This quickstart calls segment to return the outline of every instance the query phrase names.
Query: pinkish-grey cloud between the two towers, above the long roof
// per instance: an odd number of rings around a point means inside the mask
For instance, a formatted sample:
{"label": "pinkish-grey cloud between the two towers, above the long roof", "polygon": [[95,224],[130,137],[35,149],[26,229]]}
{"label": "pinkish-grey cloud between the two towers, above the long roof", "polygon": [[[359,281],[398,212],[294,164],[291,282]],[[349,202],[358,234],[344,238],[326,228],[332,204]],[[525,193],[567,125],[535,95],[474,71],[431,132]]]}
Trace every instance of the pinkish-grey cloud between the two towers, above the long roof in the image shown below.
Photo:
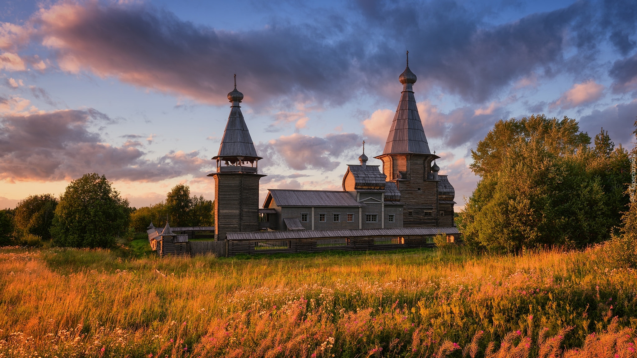
{"label": "pinkish-grey cloud between the two towers, above the long roof", "polygon": [[259,143],[257,153],[264,157],[259,167],[275,166],[281,161],[294,170],[332,171],[341,163],[334,161],[358,147],[361,137],[354,133],[327,134],[324,138],[294,133],[268,143]]}

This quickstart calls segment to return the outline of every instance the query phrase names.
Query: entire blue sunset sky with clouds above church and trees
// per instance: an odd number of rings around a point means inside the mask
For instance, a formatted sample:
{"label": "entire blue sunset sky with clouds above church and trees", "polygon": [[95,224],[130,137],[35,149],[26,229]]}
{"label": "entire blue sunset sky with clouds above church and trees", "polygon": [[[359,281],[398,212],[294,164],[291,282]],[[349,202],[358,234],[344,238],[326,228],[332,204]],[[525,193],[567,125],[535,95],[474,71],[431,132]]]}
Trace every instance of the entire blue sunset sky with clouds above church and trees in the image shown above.
{"label": "entire blue sunset sky with clouds above church and trees", "polygon": [[175,185],[214,197],[230,111],[267,189],[341,190],[382,154],[409,51],[420,118],[464,205],[471,148],[498,120],[575,118],[632,148],[634,1],[0,3],[0,207],[99,173],[131,206]]}

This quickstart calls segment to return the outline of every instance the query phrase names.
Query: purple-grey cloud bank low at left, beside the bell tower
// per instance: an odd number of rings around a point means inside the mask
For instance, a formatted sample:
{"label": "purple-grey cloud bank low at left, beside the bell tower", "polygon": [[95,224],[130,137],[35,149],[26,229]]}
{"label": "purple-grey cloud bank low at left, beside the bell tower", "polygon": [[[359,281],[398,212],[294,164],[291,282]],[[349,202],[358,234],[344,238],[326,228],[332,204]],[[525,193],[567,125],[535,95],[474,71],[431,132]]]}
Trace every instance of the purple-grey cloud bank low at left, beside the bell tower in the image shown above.
{"label": "purple-grey cloud bank low at left, beside the bell tower", "polygon": [[122,147],[102,143],[87,127],[103,121],[95,110],[62,110],[9,115],[0,120],[0,179],[69,180],[97,172],[110,180],[158,181],[187,174],[204,175],[198,152],[170,152],[150,161],[127,141]]}

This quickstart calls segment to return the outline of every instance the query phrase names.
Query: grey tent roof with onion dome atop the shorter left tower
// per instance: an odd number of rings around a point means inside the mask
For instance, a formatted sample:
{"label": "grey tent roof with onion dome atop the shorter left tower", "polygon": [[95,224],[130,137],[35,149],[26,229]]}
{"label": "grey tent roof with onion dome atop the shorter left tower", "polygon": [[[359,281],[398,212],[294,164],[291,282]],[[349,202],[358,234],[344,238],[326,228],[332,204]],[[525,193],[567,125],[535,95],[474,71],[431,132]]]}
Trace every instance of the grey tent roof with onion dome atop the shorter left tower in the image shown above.
{"label": "grey tent roof with onion dome atop the shorter left tower", "polygon": [[213,159],[218,157],[244,157],[246,160],[251,158],[261,159],[257,155],[257,150],[252,143],[252,137],[248,131],[248,126],[243,119],[243,113],[241,113],[241,107],[239,103],[243,99],[243,94],[236,88],[236,81],[234,83],[234,90],[228,94],[229,101],[233,104],[230,108],[230,115],[228,116],[228,122],[225,125],[224,136],[221,139],[221,145],[219,146],[219,153]]}

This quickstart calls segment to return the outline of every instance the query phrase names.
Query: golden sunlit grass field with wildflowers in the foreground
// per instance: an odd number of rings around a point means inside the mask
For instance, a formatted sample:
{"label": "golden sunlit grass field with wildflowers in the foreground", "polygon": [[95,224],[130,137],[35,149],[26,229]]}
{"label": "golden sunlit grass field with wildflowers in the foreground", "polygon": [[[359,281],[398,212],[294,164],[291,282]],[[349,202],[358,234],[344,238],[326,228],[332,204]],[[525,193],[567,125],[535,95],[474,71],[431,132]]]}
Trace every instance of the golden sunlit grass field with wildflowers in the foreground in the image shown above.
{"label": "golden sunlit grass field with wildflowers in the foreground", "polygon": [[637,357],[637,273],[599,249],[159,259],[141,240],[3,248],[0,277],[0,357]]}

